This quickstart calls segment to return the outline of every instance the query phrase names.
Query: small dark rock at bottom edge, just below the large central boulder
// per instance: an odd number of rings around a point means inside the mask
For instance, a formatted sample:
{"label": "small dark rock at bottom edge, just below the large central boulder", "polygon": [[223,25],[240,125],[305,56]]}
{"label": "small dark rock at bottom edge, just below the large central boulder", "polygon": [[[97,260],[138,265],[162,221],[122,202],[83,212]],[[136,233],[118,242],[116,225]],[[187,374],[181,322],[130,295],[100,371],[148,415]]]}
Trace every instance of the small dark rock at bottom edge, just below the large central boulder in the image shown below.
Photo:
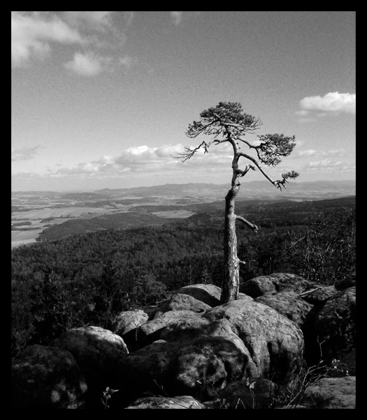
{"label": "small dark rock at bottom edge, just below the large central boulder", "polygon": [[269,379],[248,379],[232,382],[218,392],[220,404],[226,408],[270,408],[278,385]]}

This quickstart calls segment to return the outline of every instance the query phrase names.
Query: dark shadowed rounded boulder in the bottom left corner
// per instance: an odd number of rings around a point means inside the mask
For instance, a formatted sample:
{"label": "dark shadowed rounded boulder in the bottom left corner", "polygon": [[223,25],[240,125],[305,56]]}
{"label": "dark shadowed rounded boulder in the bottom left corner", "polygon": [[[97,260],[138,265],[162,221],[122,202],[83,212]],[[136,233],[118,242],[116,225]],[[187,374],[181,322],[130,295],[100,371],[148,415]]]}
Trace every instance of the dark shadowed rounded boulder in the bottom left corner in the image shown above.
{"label": "dark shadowed rounded boulder in the bottom left corner", "polygon": [[11,360],[13,409],[83,408],[87,384],[64,349],[29,346]]}

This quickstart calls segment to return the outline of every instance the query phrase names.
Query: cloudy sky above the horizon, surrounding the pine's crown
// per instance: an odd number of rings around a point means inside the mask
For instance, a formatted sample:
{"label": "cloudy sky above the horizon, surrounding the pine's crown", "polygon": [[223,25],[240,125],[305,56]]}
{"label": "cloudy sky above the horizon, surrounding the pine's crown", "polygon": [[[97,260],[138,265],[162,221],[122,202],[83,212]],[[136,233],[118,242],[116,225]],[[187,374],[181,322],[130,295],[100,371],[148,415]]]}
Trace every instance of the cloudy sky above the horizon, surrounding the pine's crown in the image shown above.
{"label": "cloudy sky above the horizon, surrounding the pine's crown", "polygon": [[[219,102],[296,137],[272,179],[355,179],[355,12],[11,13],[11,188],[229,183],[222,144],[187,127]],[[247,151],[245,151],[247,153]],[[252,152],[250,152],[251,154]],[[255,157],[255,156],[254,156]],[[245,160],[240,160],[245,165]],[[249,172],[246,181],[264,180]]]}

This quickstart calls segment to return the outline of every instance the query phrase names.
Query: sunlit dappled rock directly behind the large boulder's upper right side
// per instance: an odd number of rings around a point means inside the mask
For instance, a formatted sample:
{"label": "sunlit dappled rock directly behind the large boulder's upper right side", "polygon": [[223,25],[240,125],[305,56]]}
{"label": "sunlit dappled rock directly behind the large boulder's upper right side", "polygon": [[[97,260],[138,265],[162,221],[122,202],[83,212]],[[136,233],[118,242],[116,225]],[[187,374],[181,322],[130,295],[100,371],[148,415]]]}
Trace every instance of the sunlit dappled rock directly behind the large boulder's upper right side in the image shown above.
{"label": "sunlit dappled rock directly behind the large boulder's upper right side", "polygon": [[310,317],[312,318],[311,321],[313,321],[313,304],[297,299],[287,292],[280,292],[276,295],[262,295],[257,297],[255,302],[267,304],[275,311],[295,322],[301,329],[305,323],[306,326],[310,323]]}

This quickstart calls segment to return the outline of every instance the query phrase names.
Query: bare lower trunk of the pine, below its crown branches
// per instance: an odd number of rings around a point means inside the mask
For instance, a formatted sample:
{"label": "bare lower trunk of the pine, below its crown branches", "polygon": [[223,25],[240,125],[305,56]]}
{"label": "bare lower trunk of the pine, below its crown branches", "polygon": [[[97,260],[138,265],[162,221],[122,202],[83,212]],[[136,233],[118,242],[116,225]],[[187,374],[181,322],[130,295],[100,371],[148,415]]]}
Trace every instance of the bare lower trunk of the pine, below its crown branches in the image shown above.
{"label": "bare lower trunk of the pine, below its crown branches", "polygon": [[[234,180],[233,180],[234,181]],[[238,299],[240,285],[240,260],[237,256],[236,214],[234,203],[240,190],[239,183],[234,183],[226,195],[226,210],[224,216],[224,267],[222,295],[220,303]]]}

